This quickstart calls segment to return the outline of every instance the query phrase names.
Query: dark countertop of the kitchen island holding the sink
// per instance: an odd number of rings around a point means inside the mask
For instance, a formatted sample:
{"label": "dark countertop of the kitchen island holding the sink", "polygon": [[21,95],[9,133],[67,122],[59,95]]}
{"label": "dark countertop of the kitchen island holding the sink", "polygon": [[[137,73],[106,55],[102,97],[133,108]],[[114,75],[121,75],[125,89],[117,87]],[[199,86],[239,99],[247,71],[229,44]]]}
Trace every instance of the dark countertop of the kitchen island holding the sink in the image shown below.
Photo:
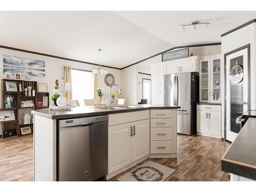
{"label": "dark countertop of the kitchen island holding the sink", "polygon": [[[136,106],[136,105],[133,105]],[[31,113],[39,115],[49,119],[66,119],[66,118],[77,118],[77,117],[90,117],[97,115],[108,115],[115,113],[126,113],[134,111],[142,111],[148,109],[180,109],[180,106],[170,106],[165,104],[142,104],[137,105],[140,108],[129,108],[129,109],[97,109],[92,108],[93,106],[77,106],[69,110],[50,110],[49,108],[33,110]]]}

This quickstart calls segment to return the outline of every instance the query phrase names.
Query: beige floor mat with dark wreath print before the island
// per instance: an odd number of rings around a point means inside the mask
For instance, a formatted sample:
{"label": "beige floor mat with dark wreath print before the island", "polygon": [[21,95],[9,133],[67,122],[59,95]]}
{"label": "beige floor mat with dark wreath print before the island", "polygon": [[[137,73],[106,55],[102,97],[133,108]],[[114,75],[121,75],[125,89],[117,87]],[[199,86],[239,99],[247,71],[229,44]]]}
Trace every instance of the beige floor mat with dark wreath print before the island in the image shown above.
{"label": "beige floor mat with dark wreath print before the island", "polygon": [[119,177],[117,181],[164,181],[174,172],[175,169],[173,168],[148,161],[133,169],[131,172]]}

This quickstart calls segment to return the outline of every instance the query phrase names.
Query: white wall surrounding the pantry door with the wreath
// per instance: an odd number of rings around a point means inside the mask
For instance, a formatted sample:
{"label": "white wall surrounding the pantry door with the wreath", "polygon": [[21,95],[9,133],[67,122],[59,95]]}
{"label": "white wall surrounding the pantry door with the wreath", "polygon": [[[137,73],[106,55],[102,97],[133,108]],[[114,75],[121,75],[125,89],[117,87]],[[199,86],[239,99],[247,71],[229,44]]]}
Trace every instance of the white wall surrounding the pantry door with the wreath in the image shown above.
{"label": "white wall surrounding the pantry door with the wreath", "polygon": [[[224,54],[250,44],[250,96],[251,109],[256,109],[255,83],[256,83],[256,67],[255,67],[255,39],[256,39],[256,24],[250,24],[242,29],[234,31],[221,38],[221,56],[222,56],[222,72],[224,71]],[[224,87],[224,73],[222,73],[222,87]],[[224,101],[224,90],[222,89],[222,101]],[[222,137],[224,137],[224,104],[222,104]]]}

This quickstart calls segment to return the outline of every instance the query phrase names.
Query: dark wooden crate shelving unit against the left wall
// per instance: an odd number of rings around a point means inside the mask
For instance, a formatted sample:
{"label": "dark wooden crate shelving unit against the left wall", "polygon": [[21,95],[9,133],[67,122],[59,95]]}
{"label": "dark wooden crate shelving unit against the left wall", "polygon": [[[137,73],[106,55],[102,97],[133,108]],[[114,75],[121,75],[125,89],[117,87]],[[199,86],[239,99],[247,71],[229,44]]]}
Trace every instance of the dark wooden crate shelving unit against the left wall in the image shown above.
{"label": "dark wooden crate shelving unit against the left wall", "polygon": [[[17,84],[17,92],[9,92],[6,90],[6,81],[12,81],[16,82]],[[19,92],[19,83],[22,84],[22,92]],[[32,90],[35,90],[35,96],[25,96],[25,88],[28,86],[32,87]],[[9,94],[9,95],[15,95],[16,97],[16,108],[6,108],[5,106],[5,99],[4,95]],[[31,91],[31,94],[33,92]],[[37,107],[37,101],[42,101],[42,97],[47,96],[48,97],[48,106],[39,106]],[[31,128],[31,133],[33,133],[33,122],[24,124],[24,123],[19,123],[19,117],[18,113],[19,110],[22,109],[42,109],[42,108],[49,108],[49,93],[48,92],[37,92],[37,81],[24,81],[24,80],[14,80],[14,79],[2,79],[2,109],[0,111],[5,111],[5,110],[13,110],[15,114],[15,120],[12,121],[3,121],[2,123],[2,138],[4,139],[4,132],[5,131],[10,131],[10,130],[15,130],[15,134],[17,136],[22,136],[20,134],[20,127],[26,127],[30,126]],[[21,100],[33,100],[34,101],[34,106],[29,106],[29,107],[21,107],[20,101]],[[20,118],[21,120],[23,119]]]}

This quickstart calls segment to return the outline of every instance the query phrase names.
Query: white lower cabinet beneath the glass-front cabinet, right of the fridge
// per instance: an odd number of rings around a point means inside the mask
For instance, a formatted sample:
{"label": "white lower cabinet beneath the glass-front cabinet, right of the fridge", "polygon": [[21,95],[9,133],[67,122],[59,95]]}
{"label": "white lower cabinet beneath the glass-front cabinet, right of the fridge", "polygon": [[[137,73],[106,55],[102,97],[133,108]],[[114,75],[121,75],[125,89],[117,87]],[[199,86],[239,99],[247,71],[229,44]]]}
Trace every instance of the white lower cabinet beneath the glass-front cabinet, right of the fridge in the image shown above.
{"label": "white lower cabinet beneath the glass-front cabinet, right of the fridge", "polygon": [[197,105],[197,133],[221,138],[221,105]]}

